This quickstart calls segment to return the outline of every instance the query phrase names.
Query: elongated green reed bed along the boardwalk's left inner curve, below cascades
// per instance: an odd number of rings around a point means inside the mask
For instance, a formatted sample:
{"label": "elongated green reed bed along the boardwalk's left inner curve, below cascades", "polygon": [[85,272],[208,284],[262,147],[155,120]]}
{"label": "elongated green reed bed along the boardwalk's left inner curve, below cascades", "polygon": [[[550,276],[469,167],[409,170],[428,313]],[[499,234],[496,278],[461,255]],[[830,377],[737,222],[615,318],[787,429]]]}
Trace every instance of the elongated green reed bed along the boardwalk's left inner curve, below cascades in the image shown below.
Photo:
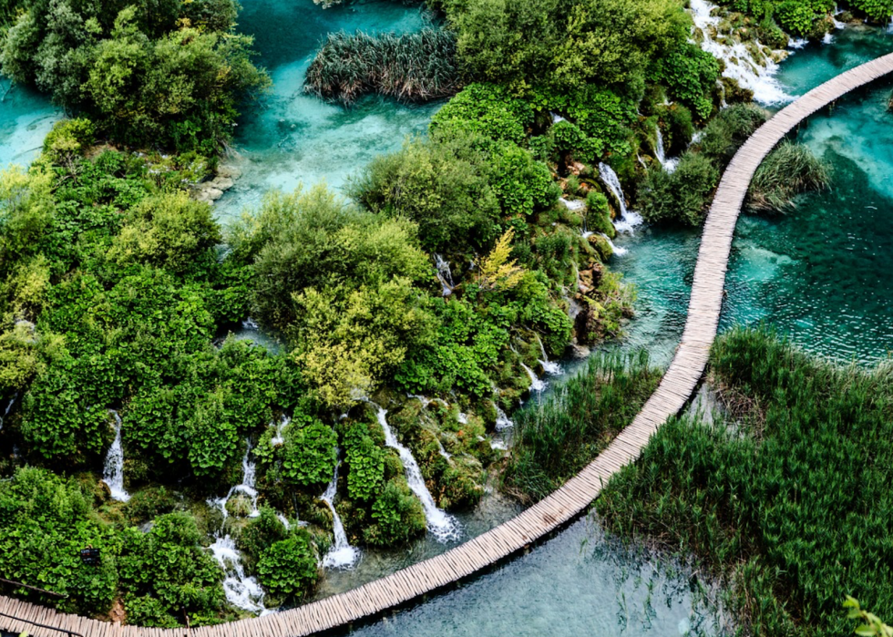
{"label": "elongated green reed bed along the boardwalk's left inner curve, below cascades", "polygon": [[548,496],[632,422],[660,379],[645,351],[592,354],[545,402],[516,413],[504,489],[521,501]]}

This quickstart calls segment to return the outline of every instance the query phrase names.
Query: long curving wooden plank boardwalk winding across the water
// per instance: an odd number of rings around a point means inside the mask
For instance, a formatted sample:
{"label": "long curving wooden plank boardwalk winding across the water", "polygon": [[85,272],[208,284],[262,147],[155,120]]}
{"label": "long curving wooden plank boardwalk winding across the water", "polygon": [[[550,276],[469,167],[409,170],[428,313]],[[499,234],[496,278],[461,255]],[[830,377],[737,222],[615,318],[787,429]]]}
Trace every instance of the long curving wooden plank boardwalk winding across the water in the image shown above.
{"label": "long curving wooden plank boardwalk winding across the water", "polygon": [[766,154],[801,120],[854,88],[890,72],[893,72],[893,54],[878,57],[834,77],[777,113],[738,150],[725,170],[704,223],[682,343],[663,376],[661,385],[632,424],[599,457],[548,498],[525,510],[515,519],[510,519],[475,539],[469,539],[436,558],[398,570],[353,591],[264,617],[191,631],[185,628],[162,630],[98,622],[58,613],[25,601],[0,597],[0,629],[29,632],[36,637],[59,636],[57,631],[8,617],[13,615],[22,620],[56,626],[63,632],[77,632],[83,637],[309,635],[375,616],[484,570],[578,516],[598,497],[602,485],[611,475],[639,457],[642,447],[647,444],[657,427],[683,408],[703,375],[723,305],[725,271],[732,249],[735,221],[754,170]]}

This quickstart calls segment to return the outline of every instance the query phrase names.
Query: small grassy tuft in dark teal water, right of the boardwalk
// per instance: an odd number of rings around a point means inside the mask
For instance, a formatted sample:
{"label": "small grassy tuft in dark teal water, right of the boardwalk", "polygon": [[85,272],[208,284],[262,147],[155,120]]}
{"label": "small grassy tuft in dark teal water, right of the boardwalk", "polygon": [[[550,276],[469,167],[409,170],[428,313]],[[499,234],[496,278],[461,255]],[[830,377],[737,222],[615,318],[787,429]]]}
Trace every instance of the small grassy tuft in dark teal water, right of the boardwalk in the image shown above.
{"label": "small grassy tuft in dark teal water, right of the boardwalk", "polygon": [[825,190],[831,183],[828,163],[803,144],[783,141],[754,173],[747,192],[751,211],[785,212],[796,206],[796,196]]}

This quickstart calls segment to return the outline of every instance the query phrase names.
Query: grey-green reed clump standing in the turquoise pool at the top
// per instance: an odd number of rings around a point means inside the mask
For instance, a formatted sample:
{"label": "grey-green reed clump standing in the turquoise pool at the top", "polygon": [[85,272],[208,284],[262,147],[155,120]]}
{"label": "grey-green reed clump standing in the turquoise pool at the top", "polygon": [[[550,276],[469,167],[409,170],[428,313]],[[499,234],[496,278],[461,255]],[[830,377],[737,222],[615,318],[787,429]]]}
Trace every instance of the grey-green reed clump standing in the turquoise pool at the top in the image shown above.
{"label": "grey-green reed clump standing in the turquoise pool at the top", "polygon": [[400,36],[329,34],[305,83],[308,93],[345,105],[373,92],[422,102],[454,95],[460,87],[456,37],[443,29]]}

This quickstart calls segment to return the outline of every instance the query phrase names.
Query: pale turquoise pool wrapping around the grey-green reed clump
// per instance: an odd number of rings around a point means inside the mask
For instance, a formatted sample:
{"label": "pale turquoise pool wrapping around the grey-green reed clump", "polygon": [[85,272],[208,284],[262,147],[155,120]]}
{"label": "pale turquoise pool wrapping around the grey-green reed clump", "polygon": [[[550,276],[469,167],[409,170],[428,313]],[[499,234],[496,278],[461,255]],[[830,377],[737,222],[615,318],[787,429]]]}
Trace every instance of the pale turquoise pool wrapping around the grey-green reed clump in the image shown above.
{"label": "pale turquoise pool wrapping around the grey-green reed clump", "polygon": [[353,108],[305,95],[303,80],[323,37],[333,31],[405,33],[426,25],[418,5],[376,1],[323,9],[313,0],[245,0],[239,30],[255,38],[273,81],[265,104],[236,128],[234,163],[242,172],[215,207],[223,221],[256,206],[271,188],[293,190],[325,181],[339,189],[375,155],[399,149],[424,132],[440,103],[407,106],[376,96]]}

